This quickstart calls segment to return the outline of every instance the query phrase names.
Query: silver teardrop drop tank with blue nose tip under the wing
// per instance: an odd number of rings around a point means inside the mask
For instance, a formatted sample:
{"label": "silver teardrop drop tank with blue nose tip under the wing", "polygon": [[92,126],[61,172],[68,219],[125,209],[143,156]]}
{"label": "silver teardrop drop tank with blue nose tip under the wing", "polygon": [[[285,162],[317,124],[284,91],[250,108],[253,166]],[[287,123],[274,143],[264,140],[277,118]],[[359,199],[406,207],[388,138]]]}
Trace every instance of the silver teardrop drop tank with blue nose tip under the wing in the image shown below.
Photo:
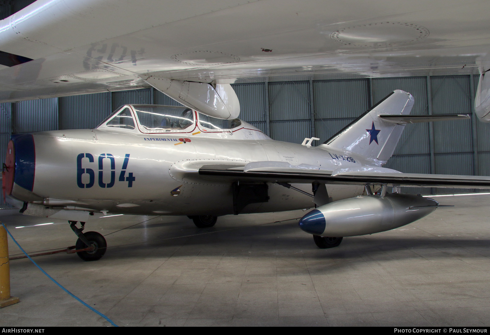
{"label": "silver teardrop drop tank with blue nose tip under the wing", "polygon": [[439,203],[410,194],[364,195],[331,202],[304,215],[299,227],[328,237],[358,236],[384,232],[432,213]]}

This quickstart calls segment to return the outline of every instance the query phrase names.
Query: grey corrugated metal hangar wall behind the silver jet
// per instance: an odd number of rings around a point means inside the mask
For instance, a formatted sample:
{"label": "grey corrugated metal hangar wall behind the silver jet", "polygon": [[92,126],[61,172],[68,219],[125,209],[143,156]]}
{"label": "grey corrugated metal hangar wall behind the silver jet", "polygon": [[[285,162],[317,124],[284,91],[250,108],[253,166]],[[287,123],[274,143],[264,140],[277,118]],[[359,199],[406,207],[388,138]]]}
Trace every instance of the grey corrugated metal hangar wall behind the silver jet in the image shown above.
{"label": "grey corrugated metal hangar wall behind the silver jet", "polygon": [[[322,143],[395,89],[415,97],[412,114],[472,115],[477,83],[477,76],[466,75],[274,81],[233,87],[240,99],[240,118],[272,139],[301,143],[313,136]],[[94,128],[126,103],[178,105],[153,89],[2,103],[0,162],[12,133]],[[490,175],[490,124],[473,115],[463,121],[409,124],[387,167],[413,173]]]}

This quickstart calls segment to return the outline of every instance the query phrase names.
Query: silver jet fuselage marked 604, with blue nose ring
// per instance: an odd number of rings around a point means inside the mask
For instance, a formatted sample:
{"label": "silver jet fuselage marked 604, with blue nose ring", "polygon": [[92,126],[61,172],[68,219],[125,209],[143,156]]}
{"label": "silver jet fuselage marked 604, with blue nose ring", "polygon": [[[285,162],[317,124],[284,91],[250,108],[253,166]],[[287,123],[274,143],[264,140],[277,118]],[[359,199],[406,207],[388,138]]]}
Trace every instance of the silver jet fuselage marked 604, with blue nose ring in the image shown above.
{"label": "silver jet fuselage marked 604, with blue nose ring", "polygon": [[[199,123],[197,113],[193,114],[193,123],[186,124],[183,132],[143,133],[135,118],[138,126],[134,129],[101,124],[96,129],[21,135],[22,141],[14,139],[15,175],[7,194],[70,210],[226,215],[233,213],[230,181],[189,179],[174,171],[190,161],[238,165],[273,161],[322,170],[369,164],[362,157],[330,150],[324,144],[313,147],[273,141],[241,120],[235,128],[208,129]],[[110,122],[109,118],[107,124]],[[24,161],[19,162],[21,159]],[[294,186],[312,191],[309,184]],[[268,187],[269,201],[248,204],[241,213],[314,207],[312,198],[298,191],[275,183],[268,183]],[[362,194],[363,187],[327,185],[327,190],[335,201]]]}

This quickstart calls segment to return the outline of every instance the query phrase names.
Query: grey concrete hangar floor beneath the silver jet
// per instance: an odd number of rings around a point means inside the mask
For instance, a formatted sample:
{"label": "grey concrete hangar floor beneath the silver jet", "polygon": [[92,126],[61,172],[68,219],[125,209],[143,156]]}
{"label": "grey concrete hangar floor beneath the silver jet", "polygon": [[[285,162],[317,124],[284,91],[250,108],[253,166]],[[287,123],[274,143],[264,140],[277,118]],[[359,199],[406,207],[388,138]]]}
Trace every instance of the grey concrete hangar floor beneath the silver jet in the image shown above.
{"label": "grey concrete hangar floor beneath the silver jet", "polygon": [[[297,227],[302,211],[223,216],[207,230],[185,216],[112,216],[85,229],[105,235],[101,260],[34,260],[119,326],[490,326],[489,199],[441,197],[456,207],[332,249]],[[1,221],[26,251],[74,244],[67,222],[14,213]],[[9,253],[20,253],[10,238]],[[110,326],[28,259],[10,272],[21,302],[0,310],[0,326]]]}

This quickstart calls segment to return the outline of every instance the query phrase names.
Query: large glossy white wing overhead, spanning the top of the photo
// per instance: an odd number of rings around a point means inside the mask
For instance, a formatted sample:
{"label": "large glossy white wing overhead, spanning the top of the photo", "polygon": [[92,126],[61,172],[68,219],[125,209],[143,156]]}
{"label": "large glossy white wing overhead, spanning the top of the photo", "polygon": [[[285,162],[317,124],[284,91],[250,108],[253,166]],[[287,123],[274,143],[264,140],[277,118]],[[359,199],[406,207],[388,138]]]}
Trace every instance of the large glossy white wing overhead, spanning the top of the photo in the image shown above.
{"label": "large glossy white wing overhead, spanning the top of the photo", "polygon": [[215,85],[476,74],[490,64],[488,9],[486,0],[38,0],[0,21],[0,101],[148,87],[150,75]]}

